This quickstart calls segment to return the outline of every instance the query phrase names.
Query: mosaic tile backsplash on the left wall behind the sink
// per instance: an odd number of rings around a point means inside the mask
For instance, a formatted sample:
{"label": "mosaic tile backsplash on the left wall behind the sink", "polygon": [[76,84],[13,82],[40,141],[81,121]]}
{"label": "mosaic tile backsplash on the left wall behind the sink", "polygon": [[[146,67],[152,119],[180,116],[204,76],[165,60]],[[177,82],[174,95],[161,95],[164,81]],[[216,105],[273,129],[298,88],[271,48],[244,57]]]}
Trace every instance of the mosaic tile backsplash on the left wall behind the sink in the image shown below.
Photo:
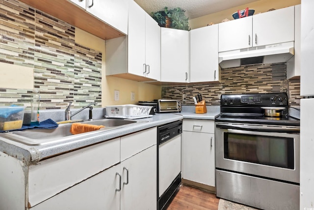
{"label": "mosaic tile backsplash on the left wall behind the sink", "polygon": [[[40,109],[102,106],[102,53],[75,43],[75,27],[16,0],[0,0],[0,62],[34,69]],[[0,106],[29,107],[32,90],[0,89]]]}

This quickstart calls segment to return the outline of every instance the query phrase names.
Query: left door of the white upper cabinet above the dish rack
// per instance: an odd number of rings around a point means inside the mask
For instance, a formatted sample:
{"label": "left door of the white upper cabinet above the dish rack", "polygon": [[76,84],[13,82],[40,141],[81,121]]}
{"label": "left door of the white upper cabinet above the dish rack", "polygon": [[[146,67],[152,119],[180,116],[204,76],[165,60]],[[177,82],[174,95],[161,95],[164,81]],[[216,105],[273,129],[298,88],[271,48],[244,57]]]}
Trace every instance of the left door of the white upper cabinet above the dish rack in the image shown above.
{"label": "left door of the white upper cabinet above the dish rack", "polygon": [[145,11],[130,1],[128,32],[128,71],[146,76],[145,73]]}

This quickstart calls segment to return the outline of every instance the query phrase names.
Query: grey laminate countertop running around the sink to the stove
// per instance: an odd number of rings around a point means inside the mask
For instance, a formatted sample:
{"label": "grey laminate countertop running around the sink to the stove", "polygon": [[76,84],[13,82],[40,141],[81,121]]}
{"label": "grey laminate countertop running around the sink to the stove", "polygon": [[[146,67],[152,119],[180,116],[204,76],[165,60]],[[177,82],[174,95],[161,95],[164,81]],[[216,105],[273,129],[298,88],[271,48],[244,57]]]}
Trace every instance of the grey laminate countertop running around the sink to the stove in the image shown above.
{"label": "grey laminate countertop running around the sink to the stove", "polygon": [[[177,120],[214,120],[215,116],[219,114],[220,109],[219,107],[207,107],[207,111],[208,112],[206,114],[195,114],[194,106],[183,106],[183,111],[181,113],[156,114],[150,118],[138,119],[136,121],[138,121],[139,123],[132,123],[125,127],[105,130],[103,132],[96,132],[95,134],[92,131],[90,132],[90,135],[83,135],[82,137],[80,136],[80,134],[77,134],[77,138],[43,145],[26,145],[4,138],[0,135],[0,151],[17,159],[20,159],[23,162],[31,164],[32,162],[38,162],[42,159],[46,159],[55,155],[66,153],[72,150],[78,150],[80,148],[98,144],[100,142],[115,139],[124,135],[128,135],[134,132],[156,127]],[[99,112],[102,113],[103,110],[99,109]],[[51,111],[49,111],[48,113],[49,116],[54,116],[52,115]],[[43,113],[43,116],[45,116],[45,113]],[[59,120],[57,118],[55,119],[55,121]]]}

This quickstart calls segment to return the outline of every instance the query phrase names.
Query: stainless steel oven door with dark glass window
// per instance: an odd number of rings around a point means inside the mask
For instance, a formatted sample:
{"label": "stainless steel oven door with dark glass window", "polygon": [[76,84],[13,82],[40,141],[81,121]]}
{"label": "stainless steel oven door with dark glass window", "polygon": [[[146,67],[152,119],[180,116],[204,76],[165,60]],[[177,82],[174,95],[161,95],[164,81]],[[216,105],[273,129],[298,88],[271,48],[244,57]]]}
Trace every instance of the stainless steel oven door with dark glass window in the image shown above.
{"label": "stainless steel oven door with dark glass window", "polygon": [[299,128],[216,122],[216,169],[300,183]]}

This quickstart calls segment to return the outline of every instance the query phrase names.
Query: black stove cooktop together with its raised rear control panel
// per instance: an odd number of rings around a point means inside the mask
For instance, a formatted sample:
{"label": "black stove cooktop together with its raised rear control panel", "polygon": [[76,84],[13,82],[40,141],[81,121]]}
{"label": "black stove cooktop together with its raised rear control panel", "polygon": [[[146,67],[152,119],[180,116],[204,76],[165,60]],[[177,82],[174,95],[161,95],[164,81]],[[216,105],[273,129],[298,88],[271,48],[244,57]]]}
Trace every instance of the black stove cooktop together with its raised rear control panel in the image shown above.
{"label": "black stove cooktop together with its raised rear control panel", "polygon": [[[273,112],[273,115],[270,113],[269,116],[265,108],[270,110],[278,108],[278,111]],[[216,117],[216,121],[300,126],[300,120],[288,115],[288,95],[285,92],[223,94],[220,111],[221,114]]]}

